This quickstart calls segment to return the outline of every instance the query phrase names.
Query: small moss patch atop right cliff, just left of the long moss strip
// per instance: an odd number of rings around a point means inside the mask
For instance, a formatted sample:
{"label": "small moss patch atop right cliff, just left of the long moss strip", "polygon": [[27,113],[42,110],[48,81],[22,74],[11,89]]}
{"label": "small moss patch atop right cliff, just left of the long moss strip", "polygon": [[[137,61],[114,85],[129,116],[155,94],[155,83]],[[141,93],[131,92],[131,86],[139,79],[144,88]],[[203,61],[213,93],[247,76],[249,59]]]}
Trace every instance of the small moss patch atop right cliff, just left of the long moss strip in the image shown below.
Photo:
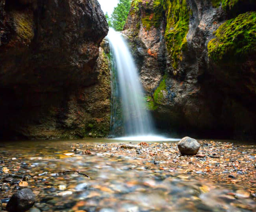
{"label": "small moss patch atop right cliff, just left of the long moss strip", "polygon": [[[148,3],[148,2],[147,2]],[[146,7],[148,4],[146,4]],[[158,28],[161,24],[163,17],[163,7],[161,0],[155,0],[153,6],[153,12],[146,8],[146,15],[141,18],[141,22],[146,30],[149,30],[152,26]]]}

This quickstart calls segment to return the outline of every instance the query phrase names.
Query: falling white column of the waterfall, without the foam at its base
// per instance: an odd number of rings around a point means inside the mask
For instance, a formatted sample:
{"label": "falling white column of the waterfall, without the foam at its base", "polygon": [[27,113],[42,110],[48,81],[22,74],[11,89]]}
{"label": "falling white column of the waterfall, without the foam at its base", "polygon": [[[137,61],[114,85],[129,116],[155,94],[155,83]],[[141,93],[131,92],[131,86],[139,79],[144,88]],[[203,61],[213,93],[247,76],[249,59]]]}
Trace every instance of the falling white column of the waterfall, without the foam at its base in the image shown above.
{"label": "falling white column of the waterfall, without the foam at its base", "polygon": [[[139,74],[129,48],[122,38],[121,33],[111,28],[107,37],[112,52],[112,70],[115,70],[117,77],[117,83],[112,82],[112,88],[115,89],[115,92],[117,92],[117,95],[121,99],[122,122],[125,135],[141,136],[153,134],[152,119],[146,109],[147,105],[139,81]],[[115,97],[112,96],[112,98],[114,98],[114,101],[117,101]],[[112,116],[114,120],[112,121],[117,120],[115,115],[116,107],[116,102],[113,102]]]}

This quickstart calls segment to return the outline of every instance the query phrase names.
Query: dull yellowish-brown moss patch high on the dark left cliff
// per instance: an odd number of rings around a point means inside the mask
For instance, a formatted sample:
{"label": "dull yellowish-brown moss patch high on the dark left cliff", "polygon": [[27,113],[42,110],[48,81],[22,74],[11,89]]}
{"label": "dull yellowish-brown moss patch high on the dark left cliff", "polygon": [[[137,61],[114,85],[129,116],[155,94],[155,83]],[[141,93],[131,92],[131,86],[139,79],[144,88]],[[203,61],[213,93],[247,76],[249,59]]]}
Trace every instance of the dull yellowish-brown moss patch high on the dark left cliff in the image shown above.
{"label": "dull yellowish-brown moss patch high on the dark left cliff", "polygon": [[33,20],[28,14],[14,11],[12,13],[16,33],[21,39],[30,41],[34,37]]}

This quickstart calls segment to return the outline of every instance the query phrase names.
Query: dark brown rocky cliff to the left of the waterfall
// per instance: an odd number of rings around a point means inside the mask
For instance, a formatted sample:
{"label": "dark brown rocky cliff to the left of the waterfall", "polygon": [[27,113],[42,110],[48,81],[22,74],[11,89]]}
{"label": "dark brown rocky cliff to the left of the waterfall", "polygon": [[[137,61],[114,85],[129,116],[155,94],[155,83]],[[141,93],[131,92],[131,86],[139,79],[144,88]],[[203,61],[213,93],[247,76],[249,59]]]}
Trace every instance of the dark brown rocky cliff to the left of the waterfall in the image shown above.
{"label": "dark brown rocky cliff to the left of the waterfall", "polygon": [[0,137],[106,136],[107,32],[97,0],[0,0]]}

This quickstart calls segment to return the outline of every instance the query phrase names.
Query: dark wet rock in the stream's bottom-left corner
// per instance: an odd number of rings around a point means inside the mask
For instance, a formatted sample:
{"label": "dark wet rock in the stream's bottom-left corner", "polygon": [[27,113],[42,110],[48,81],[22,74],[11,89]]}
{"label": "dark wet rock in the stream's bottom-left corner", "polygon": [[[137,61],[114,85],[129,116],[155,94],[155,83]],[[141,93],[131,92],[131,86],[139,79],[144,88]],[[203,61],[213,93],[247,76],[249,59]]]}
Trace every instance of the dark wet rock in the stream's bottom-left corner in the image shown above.
{"label": "dark wet rock in the stream's bottom-left corner", "polygon": [[35,194],[29,188],[24,188],[17,191],[9,202],[7,203],[6,210],[9,212],[24,212],[29,210],[35,203]]}

